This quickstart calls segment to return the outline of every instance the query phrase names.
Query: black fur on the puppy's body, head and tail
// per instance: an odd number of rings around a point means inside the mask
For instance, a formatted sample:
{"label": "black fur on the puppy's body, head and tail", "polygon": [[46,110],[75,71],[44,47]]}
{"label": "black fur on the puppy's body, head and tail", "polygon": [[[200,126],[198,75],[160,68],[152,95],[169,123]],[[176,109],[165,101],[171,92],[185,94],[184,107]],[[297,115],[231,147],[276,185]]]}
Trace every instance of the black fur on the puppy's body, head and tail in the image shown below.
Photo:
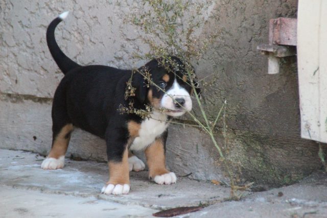
{"label": "black fur on the puppy's body, head and tail", "polygon": [[[155,98],[160,98],[164,92],[153,85],[148,88],[144,77],[132,70],[102,65],[81,66],[69,59],[60,50],[55,40],[55,28],[60,21],[60,18],[54,19],[46,32],[49,50],[65,75],[53,100],[53,138],[65,125],[73,124],[75,127],[105,139],[108,161],[121,161],[123,152],[128,146],[127,123],[130,120],[141,123],[143,119],[132,113],[122,113],[119,108],[128,107],[129,103],[133,102],[134,108],[145,109],[147,104],[151,104],[147,99],[150,89]],[[172,57],[172,59],[182,64],[178,58]],[[139,70],[144,68],[151,72],[151,79],[154,83],[160,82],[162,76],[168,74],[172,80],[168,82],[167,88],[172,86],[173,79],[176,78],[186,90],[191,92],[191,87],[181,81],[182,72],[167,70],[167,67],[160,66],[157,60],[151,60]],[[176,74],[179,76],[175,77]],[[136,88],[135,96],[130,96],[126,100],[126,85],[131,76],[132,85]],[[165,142],[164,144],[166,144],[167,135],[165,131],[159,136]],[[67,137],[69,136],[70,133]]]}

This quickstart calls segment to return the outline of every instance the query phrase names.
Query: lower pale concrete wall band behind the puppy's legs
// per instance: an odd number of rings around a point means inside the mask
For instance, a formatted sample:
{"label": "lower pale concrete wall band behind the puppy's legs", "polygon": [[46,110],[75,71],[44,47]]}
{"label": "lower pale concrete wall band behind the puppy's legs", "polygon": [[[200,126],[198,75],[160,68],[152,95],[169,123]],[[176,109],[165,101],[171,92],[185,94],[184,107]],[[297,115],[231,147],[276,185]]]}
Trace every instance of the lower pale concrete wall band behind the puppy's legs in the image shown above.
{"label": "lower pale concrete wall band behind the puppy's legs", "polygon": [[[52,99],[15,94],[0,95],[0,148],[33,151],[47,155],[51,148]],[[196,138],[189,134],[197,135]],[[181,140],[182,139],[182,140]],[[217,155],[210,140],[196,129],[172,126],[167,141],[167,164],[179,176],[228,181],[217,167]],[[184,153],[184,155],[181,155]],[[145,162],[143,152],[136,153]],[[105,141],[74,130],[66,157],[106,161]],[[199,167],[200,165],[200,167]]]}

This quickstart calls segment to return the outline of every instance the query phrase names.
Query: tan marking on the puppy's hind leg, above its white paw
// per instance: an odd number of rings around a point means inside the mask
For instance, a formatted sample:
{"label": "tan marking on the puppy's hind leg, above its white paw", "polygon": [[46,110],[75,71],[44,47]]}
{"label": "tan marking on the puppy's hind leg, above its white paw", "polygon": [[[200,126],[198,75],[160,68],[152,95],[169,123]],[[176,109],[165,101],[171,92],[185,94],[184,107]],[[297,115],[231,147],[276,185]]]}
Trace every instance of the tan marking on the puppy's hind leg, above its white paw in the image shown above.
{"label": "tan marking on the puppy's hind leg, above its white paw", "polygon": [[48,155],[48,158],[52,157],[58,159],[61,156],[65,156],[68,148],[69,139],[71,139],[70,136],[66,138],[66,135],[72,131],[73,131],[72,124],[67,124],[61,129],[61,131],[53,141],[52,148]]}

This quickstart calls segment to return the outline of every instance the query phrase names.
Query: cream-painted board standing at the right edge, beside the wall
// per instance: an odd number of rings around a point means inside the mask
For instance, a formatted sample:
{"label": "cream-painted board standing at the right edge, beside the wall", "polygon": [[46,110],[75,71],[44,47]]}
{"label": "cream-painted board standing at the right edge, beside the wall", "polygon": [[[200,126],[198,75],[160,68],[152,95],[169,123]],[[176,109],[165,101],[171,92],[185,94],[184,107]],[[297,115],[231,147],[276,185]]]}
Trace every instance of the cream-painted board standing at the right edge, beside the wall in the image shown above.
{"label": "cream-painted board standing at the right edge, beside the wall", "polygon": [[300,0],[297,19],[301,136],[327,142],[327,1]]}

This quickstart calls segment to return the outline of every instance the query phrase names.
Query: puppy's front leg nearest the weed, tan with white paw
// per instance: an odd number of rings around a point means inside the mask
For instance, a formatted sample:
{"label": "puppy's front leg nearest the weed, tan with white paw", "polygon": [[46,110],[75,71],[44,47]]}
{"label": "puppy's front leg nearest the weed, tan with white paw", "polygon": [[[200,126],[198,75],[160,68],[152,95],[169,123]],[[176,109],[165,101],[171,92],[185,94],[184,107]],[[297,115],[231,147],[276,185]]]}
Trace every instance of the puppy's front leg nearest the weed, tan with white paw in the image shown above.
{"label": "puppy's front leg nearest the weed, tan with white paw", "polygon": [[157,138],[145,150],[149,167],[149,178],[160,185],[176,183],[177,180],[176,175],[169,172],[166,168],[165,142],[166,139]]}

